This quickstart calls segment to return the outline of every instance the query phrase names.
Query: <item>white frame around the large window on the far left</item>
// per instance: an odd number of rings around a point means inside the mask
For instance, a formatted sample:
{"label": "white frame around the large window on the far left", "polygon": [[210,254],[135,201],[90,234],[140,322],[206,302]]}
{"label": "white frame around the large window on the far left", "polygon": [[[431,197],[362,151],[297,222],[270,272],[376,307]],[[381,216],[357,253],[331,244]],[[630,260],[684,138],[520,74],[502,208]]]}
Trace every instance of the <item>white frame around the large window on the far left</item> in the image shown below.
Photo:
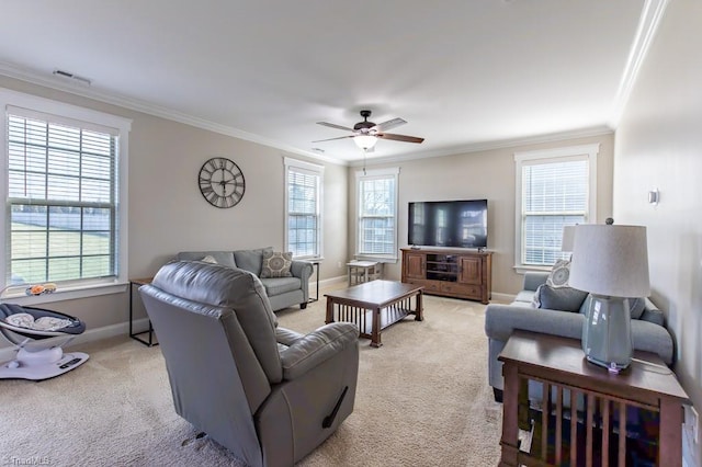
{"label": "white frame around the large window on the far left", "polygon": [[[0,88],[0,109],[2,109],[3,122],[0,125],[0,190],[4,201],[4,215],[2,217],[2,228],[0,228],[0,241],[8,246],[9,221],[10,221],[10,204],[9,204],[9,135],[8,135],[8,114],[9,109],[21,107],[30,112],[54,115],[56,119],[52,122],[65,122],[66,119],[73,123],[84,124],[86,129],[94,129],[94,125],[109,127],[116,130],[117,152],[116,152],[116,209],[117,216],[115,228],[115,247],[114,260],[116,261],[116,275],[104,278],[87,278],[68,281],[59,284],[57,291],[53,294],[46,294],[34,297],[26,297],[23,286],[8,287],[2,294],[2,298],[12,298],[19,304],[41,304],[49,301],[59,301],[75,298],[86,298],[99,295],[122,293],[126,289],[128,283],[128,193],[127,193],[127,168],[128,168],[128,136],[132,129],[132,121],[116,115],[106,114],[91,109],[80,107],[59,101],[38,98],[16,91]],[[7,263],[10,260],[8,248],[0,251],[0,284],[7,281]]]}

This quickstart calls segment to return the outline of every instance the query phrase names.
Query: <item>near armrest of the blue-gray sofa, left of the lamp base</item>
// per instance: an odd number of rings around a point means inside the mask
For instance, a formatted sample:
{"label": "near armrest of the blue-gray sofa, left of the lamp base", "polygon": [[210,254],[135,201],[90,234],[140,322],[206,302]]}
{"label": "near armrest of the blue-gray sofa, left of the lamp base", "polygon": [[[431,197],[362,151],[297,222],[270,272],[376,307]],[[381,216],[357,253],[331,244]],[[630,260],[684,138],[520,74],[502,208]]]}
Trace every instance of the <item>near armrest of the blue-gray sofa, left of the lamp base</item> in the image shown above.
{"label": "near armrest of the blue-gray sofa, left of the lamp base", "polygon": [[507,342],[514,329],[581,339],[585,316],[579,312],[490,304],[485,309],[485,333]]}

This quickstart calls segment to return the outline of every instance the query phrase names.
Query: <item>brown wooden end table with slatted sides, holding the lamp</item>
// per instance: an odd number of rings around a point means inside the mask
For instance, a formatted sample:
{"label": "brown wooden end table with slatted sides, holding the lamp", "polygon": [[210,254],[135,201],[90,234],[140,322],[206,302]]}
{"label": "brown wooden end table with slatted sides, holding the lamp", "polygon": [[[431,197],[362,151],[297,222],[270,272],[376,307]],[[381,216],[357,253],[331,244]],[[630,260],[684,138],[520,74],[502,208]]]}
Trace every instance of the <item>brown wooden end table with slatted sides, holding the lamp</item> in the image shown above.
{"label": "brown wooden end table with slatted sides, holding the lamp", "polygon": [[[500,466],[623,467],[642,451],[654,459],[636,465],[681,466],[688,396],[657,355],[636,353],[629,368],[611,374],[586,361],[579,340],[516,331],[499,360],[505,377]],[[528,407],[530,380],[543,385],[539,411]],[[518,437],[530,424],[533,441],[526,453]]]}

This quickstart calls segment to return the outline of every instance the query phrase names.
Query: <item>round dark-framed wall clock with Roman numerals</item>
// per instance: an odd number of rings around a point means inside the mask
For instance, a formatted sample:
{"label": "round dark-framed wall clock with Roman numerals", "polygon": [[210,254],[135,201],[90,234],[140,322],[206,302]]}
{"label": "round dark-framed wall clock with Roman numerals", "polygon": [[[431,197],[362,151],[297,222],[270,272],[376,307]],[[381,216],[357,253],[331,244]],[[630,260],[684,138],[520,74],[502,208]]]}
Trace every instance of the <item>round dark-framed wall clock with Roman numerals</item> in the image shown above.
{"label": "round dark-framed wall clock with Roman numerals", "polygon": [[213,206],[236,206],[244,197],[245,187],[241,169],[229,159],[215,157],[200,169],[200,191]]}

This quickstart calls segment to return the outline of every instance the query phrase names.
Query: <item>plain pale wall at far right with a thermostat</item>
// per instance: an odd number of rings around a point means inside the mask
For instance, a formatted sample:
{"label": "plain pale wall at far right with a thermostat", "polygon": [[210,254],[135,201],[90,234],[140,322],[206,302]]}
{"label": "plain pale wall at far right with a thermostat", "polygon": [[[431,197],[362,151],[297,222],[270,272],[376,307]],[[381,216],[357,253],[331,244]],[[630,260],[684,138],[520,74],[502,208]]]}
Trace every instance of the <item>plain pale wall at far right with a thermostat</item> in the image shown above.
{"label": "plain pale wall at far right with a thermostat", "polygon": [[[702,408],[702,3],[671,1],[615,135],[614,219],[647,226],[653,299]],[[660,190],[657,206],[647,192]],[[697,447],[697,459],[700,448]]]}

